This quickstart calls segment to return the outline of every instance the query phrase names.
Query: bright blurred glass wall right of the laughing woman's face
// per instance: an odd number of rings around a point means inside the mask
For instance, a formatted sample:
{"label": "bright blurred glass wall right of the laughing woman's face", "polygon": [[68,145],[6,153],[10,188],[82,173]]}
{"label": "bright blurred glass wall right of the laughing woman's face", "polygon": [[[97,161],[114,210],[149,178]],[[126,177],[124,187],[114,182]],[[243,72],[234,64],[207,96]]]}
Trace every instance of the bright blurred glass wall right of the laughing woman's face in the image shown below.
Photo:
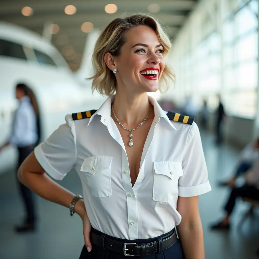
{"label": "bright blurred glass wall right of the laughing woman's face", "polygon": [[[229,115],[255,118],[258,88],[258,0],[204,0],[173,42],[178,105],[205,97],[211,110],[221,94]],[[170,95],[170,93],[169,93]],[[181,98],[179,98],[181,97]]]}

